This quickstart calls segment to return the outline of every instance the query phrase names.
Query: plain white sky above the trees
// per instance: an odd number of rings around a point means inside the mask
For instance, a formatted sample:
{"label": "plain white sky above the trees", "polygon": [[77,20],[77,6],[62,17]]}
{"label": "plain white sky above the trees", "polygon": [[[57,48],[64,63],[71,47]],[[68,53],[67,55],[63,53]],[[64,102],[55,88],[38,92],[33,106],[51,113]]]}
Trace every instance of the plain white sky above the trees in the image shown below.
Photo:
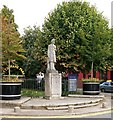
{"label": "plain white sky above the trees", "polygon": [[[20,34],[24,33],[24,28],[28,26],[42,26],[45,17],[53,11],[57,4],[69,0],[0,0],[0,9],[6,5],[14,10],[15,23],[19,26]],[[95,5],[99,12],[108,19],[111,26],[111,2],[113,0],[82,0],[91,5]],[[113,3],[113,2],[112,2]]]}

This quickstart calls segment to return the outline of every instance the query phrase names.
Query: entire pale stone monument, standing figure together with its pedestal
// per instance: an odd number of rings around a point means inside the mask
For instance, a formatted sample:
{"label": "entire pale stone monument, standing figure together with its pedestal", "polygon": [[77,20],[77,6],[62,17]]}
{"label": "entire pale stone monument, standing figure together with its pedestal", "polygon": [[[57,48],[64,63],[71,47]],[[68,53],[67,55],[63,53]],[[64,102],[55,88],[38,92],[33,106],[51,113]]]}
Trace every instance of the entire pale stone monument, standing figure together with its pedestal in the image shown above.
{"label": "entire pale stone monument, standing figure together with its pedestal", "polygon": [[47,56],[47,71],[45,74],[45,98],[59,99],[61,98],[62,93],[62,76],[61,73],[58,73],[58,71],[55,69],[55,39],[52,39],[51,44],[48,45]]}

